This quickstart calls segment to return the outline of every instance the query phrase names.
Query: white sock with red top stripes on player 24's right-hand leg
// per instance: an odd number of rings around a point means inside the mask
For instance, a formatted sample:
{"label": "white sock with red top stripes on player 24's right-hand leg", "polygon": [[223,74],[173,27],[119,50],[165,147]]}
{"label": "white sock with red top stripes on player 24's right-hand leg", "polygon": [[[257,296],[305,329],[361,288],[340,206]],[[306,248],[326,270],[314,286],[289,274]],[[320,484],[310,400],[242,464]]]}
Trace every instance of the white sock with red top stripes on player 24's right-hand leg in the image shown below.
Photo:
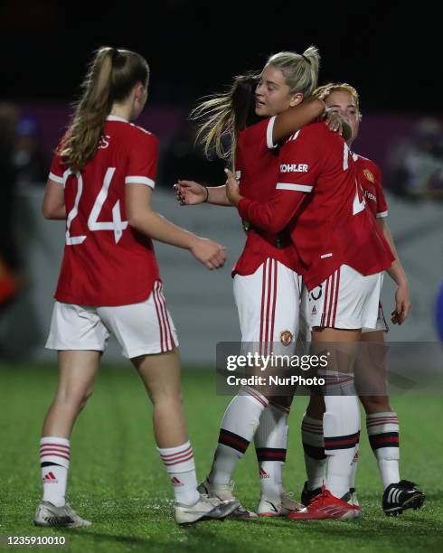
{"label": "white sock with red top stripes on player 24's right-hand leg", "polygon": [[189,441],[177,447],[157,447],[158,453],[169,473],[174,489],[174,498],[178,503],[193,505],[198,501],[197,475],[193,460],[193,447]]}

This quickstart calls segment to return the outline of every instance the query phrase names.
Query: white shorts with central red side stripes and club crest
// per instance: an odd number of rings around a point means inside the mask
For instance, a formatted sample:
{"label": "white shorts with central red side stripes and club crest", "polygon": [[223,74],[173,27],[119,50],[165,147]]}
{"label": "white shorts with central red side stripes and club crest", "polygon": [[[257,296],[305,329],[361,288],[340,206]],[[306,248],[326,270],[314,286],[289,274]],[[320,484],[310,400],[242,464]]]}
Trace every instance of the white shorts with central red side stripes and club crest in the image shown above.
{"label": "white shorts with central red side stripes and club crest", "polygon": [[301,284],[298,273],[272,258],[252,275],[235,275],[241,342],[250,344],[246,349],[263,355],[284,354],[288,346],[295,345]]}

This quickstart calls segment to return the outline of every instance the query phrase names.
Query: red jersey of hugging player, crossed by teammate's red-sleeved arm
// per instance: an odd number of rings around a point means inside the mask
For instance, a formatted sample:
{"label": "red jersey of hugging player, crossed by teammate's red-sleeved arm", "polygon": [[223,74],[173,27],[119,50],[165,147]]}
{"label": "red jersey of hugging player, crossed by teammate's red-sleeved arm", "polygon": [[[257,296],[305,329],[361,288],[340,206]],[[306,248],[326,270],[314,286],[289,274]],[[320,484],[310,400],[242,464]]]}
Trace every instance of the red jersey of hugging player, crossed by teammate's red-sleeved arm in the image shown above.
{"label": "red jersey of hugging player, crossed by teammate's red-sleeved arm", "polygon": [[[272,144],[275,117],[266,118],[240,132],[235,155],[237,179],[242,195],[256,202],[268,202],[278,176],[278,151]],[[248,238],[232,276],[252,275],[268,258],[277,259],[297,273],[301,270],[297,251],[289,234],[269,232],[248,225]]]}

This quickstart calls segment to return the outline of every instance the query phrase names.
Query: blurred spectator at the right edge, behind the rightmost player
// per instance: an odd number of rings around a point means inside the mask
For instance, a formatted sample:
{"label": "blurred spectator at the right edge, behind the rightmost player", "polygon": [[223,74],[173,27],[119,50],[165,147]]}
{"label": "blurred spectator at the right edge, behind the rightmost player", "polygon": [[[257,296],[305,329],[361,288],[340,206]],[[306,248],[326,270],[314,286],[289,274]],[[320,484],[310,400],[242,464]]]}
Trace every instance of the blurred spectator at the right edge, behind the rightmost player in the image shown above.
{"label": "blurred spectator at the right edge, behind the rightmost player", "polygon": [[421,119],[389,157],[392,192],[443,199],[443,129],[436,119]]}

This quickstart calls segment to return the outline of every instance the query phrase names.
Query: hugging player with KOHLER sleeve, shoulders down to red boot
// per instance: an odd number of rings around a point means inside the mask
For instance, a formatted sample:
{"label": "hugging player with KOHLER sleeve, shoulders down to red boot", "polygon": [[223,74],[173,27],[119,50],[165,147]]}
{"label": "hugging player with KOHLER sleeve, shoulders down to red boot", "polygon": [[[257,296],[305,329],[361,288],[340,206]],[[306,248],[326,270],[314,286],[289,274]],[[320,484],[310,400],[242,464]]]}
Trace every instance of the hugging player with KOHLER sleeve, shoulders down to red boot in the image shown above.
{"label": "hugging player with KOHLER sleeve, shoulders down to red boot", "polygon": [[[228,173],[228,196],[243,219],[273,233],[290,225],[309,291],[314,345],[331,350],[325,373],[330,385],[325,396],[325,490],[306,510],[288,517],[352,519],[357,509],[348,503],[349,482],[359,428],[352,394],[354,345],[362,328],[375,326],[382,270],[393,260],[390,248],[365,210],[348,146],[319,123],[304,127],[280,149],[269,202],[243,197]],[[343,345],[332,348],[332,342]]]}

